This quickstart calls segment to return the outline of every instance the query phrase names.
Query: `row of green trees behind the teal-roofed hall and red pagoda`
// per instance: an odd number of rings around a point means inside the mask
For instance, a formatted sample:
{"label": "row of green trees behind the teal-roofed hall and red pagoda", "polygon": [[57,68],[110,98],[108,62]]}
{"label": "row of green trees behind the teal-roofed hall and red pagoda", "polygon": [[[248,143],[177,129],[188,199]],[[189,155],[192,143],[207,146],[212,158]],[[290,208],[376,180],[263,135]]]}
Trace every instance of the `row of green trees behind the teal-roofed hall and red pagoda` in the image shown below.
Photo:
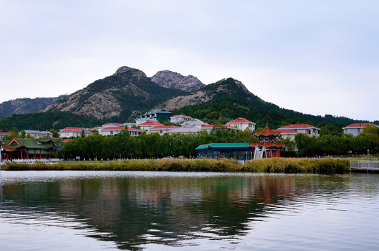
{"label": "row of green trees behind the teal-roofed hall and red pagoda", "polygon": [[[249,130],[238,132],[216,128],[212,132],[199,132],[196,135],[164,135],[142,132],[139,137],[132,137],[126,130],[118,135],[104,137],[95,133],[88,137],[79,137],[65,144],[61,157],[72,159],[115,159],[115,158],[163,158],[194,157],[196,147],[201,144],[220,142],[257,142]],[[311,157],[316,155],[362,154],[367,149],[379,153],[379,128],[368,126],[357,136],[324,135],[307,137],[298,134],[295,141],[279,139],[286,144],[282,155]]]}

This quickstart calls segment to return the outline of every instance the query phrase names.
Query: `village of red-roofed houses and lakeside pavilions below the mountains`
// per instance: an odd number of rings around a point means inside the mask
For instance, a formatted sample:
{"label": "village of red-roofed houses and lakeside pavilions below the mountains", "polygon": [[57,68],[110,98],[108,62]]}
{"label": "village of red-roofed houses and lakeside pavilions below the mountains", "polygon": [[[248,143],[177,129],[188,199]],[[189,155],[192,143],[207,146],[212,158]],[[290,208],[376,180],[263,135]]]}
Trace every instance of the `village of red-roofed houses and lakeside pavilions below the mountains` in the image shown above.
{"label": "village of red-roofed houses and lakeside pavilions below the mountains", "polygon": [[[164,124],[165,123],[165,124]],[[343,128],[344,135],[352,137],[359,135],[366,126],[379,126],[373,123],[353,123]],[[296,135],[306,135],[306,138],[320,137],[320,128],[309,124],[291,124],[277,129],[266,127],[257,132],[256,123],[245,118],[237,118],[222,125],[209,125],[199,119],[183,114],[172,114],[164,109],[154,110],[142,114],[136,119],[135,123],[105,123],[94,128],[75,128],[66,127],[56,132],[39,130],[22,130],[15,137],[11,132],[0,132],[1,160],[51,160],[56,159],[59,149],[62,149],[64,142],[70,142],[77,137],[88,137],[97,133],[98,135],[112,136],[127,131],[132,137],[139,137],[142,132],[146,135],[198,135],[199,132],[214,132],[215,128],[226,131],[250,132],[258,138],[258,142],[228,143],[212,142],[192,146],[192,151],[196,150],[199,158],[233,158],[237,160],[252,160],[254,158],[273,158],[281,157],[281,149],[286,144],[295,141]],[[305,137],[305,136],[304,136]],[[277,139],[280,139],[278,142]],[[304,142],[304,140],[303,140]],[[310,144],[305,142],[304,144]],[[307,149],[307,146],[297,142],[293,151],[298,151],[299,146]],[[332,146],[333,147],[333,146]],[[195,149],[196,148],[196,149]],[[157,151],[155,149],[154,151]],[[305,150],[307,151],[307,150]],[[191,149],[188,150],[191,152]],[[306,152],[307,153],[307,152]],[[130,153],[132,155],[132,153]],[[137,153],[136,153],[137,155]],[[148,153],[145,153],[148,155]]]}

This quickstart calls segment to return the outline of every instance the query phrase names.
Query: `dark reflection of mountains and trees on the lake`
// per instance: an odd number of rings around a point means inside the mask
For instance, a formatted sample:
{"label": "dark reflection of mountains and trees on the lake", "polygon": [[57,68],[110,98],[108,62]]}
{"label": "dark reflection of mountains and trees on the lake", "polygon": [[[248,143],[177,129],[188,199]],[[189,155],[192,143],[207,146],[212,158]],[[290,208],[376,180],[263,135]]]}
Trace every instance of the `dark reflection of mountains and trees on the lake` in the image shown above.
{"label": "dark reflection of mountains and trees on the lake", "polygon": [[86,178],[4,184],[1,196],[2,201],[13,201],[10,208],[75,215],[97,229],[98,234],[91,236],[114,241],[119,248],[138,249],[144,243],[176,245],[183,237],[199,238],[204,231],[219,238],[242,235],[252,221],[280,210],[275,206],[320,188],[341,190],[338,178],[325,182],[328,178],[280,174]]}

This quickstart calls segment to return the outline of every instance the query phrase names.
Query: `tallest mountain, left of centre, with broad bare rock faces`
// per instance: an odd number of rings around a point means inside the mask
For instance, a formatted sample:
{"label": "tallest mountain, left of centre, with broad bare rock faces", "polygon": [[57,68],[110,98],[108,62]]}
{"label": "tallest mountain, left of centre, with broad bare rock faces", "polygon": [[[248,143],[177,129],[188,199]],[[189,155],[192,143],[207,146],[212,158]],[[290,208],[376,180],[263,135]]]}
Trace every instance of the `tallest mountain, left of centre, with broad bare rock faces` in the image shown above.
{"label": "tallest mountain, left of centre, with broad bare rock faces", "polygon": [[42,112],[72,112],[95,119],[135,119],[137,114],[182,93],[155,84],[141,70],[123,66],[114,75],[96,80]]}

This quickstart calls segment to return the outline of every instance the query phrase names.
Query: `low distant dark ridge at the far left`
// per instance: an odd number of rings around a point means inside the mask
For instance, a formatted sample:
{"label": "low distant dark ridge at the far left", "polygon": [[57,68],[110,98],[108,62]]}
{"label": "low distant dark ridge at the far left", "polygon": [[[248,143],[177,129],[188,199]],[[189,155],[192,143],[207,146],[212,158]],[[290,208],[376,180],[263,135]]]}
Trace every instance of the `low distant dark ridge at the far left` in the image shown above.
{"label": "low distant dark ridge at the far left", "polygon": [[0,118],[13,114],[29,114],[38,112],[58,100],[65,98],[65,95],[56,98],[17,98],[0,104]]}

